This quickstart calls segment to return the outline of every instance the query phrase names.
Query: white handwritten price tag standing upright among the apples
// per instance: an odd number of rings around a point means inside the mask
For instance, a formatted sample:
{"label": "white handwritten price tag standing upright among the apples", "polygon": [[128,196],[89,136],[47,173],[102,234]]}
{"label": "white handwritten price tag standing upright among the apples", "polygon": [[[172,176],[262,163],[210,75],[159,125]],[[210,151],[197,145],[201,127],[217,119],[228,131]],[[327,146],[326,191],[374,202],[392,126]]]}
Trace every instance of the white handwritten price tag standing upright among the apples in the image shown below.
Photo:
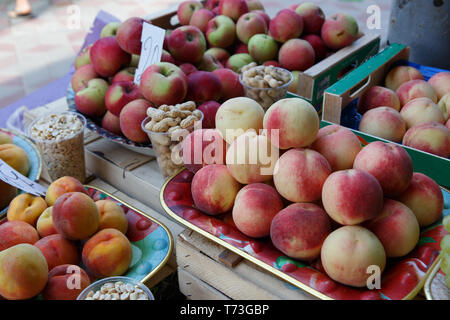
{"label": "white handwritten price tag standing upright among the apples", "polygon": [[134,83],[139,85],[142,73],[148,66],[161,61],[166,31],[160,27],[144,22],[142,26],[142,48],[139,64],[134,74]]}

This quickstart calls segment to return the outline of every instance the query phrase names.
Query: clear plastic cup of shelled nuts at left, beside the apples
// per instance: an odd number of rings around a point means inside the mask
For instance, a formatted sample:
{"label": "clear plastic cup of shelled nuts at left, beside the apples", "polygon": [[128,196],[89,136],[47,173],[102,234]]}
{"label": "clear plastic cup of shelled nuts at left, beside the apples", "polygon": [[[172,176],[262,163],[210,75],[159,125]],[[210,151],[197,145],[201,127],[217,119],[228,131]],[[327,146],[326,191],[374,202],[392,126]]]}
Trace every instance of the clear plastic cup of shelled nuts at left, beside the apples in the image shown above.
{"label": "clear plastic cup of shelled nuts at left, beside the apples", "polygon": [[72,176],[84,181],[84,123],[72,112],[53,113],[30,127],[46,169],[53,180]]}

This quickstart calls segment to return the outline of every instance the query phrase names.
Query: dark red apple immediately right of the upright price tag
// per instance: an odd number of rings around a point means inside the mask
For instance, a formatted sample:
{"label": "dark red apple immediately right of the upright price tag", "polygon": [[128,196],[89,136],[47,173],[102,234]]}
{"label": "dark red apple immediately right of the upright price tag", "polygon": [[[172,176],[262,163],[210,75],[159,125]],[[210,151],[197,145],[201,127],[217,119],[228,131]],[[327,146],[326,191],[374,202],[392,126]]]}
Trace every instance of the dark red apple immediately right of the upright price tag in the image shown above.
{"label": "dark red apple immediately right of the upright price tag", "polygon": [[176,60],[190,63],[199,62],[205,50],[205,37],[197,27],[178,27],[170,34],[169,51]]}

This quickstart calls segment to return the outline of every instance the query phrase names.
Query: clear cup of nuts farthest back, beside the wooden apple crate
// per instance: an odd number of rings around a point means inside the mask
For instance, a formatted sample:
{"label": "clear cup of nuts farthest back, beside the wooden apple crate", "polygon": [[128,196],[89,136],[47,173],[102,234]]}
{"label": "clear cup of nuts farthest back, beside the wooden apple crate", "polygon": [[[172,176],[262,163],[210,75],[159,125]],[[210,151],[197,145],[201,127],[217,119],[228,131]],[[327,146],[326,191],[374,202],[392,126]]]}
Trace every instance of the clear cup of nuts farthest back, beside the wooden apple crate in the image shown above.
{"label": "clear cup of nuts farthest back, beside the wooden apple crate", "polygon": [[294,80],[289,70],[275,66],[258,66],[255,62],[242,67],[239,81],[245,95],[257,101],[267,111],[276,101],[286,97]]}

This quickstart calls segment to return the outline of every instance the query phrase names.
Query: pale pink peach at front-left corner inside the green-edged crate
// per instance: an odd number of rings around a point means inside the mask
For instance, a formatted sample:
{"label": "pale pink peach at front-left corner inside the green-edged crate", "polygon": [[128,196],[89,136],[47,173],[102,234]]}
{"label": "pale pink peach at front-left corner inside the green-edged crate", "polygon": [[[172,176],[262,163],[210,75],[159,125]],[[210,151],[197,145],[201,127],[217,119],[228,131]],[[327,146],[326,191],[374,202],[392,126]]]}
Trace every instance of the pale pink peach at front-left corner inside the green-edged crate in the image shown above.
{"label": "pale pink peach at front-left corner inside the green-edged crate", "polygon": [[393,142],[401,142],[406,132],[406,123],[397,110],[377,107],[364,113],[358,130]]}

